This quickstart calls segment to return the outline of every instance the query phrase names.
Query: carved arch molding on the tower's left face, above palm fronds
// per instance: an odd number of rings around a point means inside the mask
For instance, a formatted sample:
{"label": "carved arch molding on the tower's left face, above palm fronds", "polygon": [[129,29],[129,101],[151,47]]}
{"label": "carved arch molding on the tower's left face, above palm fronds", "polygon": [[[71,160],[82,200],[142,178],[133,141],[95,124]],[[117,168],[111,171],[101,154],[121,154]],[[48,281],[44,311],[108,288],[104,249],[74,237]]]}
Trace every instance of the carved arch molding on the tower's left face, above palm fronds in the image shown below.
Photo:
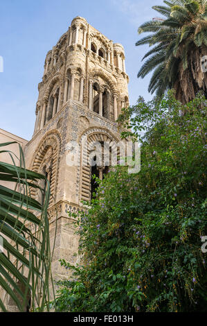
{"label": "carved arch molding on the tower's left face, above palm fronds", "polygon": [[[44,135],[33,157],[32,170],[34,172],[41,173],[43,166],[46,166],[51,171],[51,198],[49,206],[55,202],[61,148],[62,137],[60,132],[51,130]],[[37,197],[37,189],[32,189],[31,194]]]}

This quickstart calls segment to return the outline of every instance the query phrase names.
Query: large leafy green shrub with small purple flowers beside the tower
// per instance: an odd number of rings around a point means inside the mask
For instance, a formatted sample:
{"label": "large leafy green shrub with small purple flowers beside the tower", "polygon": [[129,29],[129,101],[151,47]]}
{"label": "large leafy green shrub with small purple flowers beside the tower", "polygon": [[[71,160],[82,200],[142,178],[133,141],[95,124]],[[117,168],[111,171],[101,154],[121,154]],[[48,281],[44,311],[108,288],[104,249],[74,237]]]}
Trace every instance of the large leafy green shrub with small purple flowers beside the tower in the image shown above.
{"label": "large leafy green shrub with small purple flowers beside the tower", "polygon": [[202,96],[182,106],[172,93],[123,109],[141,171],[117,166],[98,181],[77,216],[82,265],[61,261],[73,275],[59,282],[57,310],[207,311],[206,109]]}

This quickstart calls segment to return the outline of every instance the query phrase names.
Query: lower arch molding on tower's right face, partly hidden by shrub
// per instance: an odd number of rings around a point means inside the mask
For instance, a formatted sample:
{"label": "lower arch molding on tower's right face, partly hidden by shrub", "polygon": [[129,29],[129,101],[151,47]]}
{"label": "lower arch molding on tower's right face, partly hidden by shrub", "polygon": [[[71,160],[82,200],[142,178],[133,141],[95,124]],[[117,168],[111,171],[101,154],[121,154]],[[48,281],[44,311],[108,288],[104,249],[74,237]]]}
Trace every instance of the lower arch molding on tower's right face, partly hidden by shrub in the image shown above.
{"label": "lower arch molding on tower's right face, partly hidden by shrub", "polygon": [[[87,137],[87,146],[82,148],[82,138]],[[89,153],[93,150],[92,143],[93,142],[102,142],[108,141],[109,144],[117,144],[120,139],[115,137],[109,130],[105,128],[89,128],[82,132],[82,135],[79,137],[79,145],[81,148],[82,157],[80,157],[80,189],[79,189],[79,201],[85,200],[89,201],[91,199],[91,166],[84,166],[83,162],[88,162]],[[119,153],[119,151],[118,151]],[[78,180],[79,182],[79,180]]]}

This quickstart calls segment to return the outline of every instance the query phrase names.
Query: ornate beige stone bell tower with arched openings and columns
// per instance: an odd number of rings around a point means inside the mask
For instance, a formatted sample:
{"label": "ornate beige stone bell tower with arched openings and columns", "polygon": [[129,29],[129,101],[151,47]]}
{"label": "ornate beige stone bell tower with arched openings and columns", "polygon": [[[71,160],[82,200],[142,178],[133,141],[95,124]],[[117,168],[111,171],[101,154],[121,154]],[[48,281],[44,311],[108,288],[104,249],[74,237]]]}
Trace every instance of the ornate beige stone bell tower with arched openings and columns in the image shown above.
{"label": "ornate beige stone bell tower with arched openings and columns", "polygon": [[[74,149],[68,144],[80,144],[83,136],[89,144],[120,141],[115,121],[121,108],[128,105],[128,82],[123,46],[114,44],[82,17],[73,19],[46,55],[38,85],[35,130],[25,155],[27,168],[44,173],[51,182],[48,214],[52,240],[57,216],[52,266],[56,280],[66,275],[59,259],[71,263],[77,259],[78,237],[68,212],[78,212],[82,200],[91,199],[91,166],[83,164],[87,153],[78,158],[78,166],[69,166],[67,155]],[[39,194],[33,191],[33,196]]]}

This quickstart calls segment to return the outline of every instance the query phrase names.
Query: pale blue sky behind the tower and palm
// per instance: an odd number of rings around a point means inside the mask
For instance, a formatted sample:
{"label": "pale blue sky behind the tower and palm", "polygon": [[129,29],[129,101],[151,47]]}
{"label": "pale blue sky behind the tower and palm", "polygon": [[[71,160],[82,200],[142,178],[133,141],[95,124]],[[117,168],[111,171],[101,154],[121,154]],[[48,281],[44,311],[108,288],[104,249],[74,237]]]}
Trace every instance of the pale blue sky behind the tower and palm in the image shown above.
{"label": "pale blue sky behind the tower and palm", "polygon": [[114,42],[123,44],[129,75],[129,101],[150,100],[150,76],[136,77],[147,46],[135,46],[143,22],[157,17],[153,5],[162,0],[1,0],[0,128],[30,139],[35,124],[37,85],[42,80],[46,53],[76,16],[87,19]]}

